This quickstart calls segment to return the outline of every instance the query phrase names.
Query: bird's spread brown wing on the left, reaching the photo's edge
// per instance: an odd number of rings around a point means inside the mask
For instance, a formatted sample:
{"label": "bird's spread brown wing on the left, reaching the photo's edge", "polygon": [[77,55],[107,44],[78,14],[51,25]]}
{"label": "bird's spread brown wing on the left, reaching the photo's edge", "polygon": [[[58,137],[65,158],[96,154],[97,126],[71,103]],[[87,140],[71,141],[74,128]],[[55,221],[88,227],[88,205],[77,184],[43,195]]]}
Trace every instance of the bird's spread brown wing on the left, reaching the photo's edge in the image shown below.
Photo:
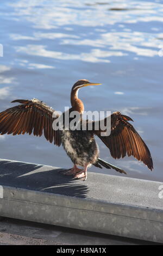
{"label": "bird's spread brown wing on the left, reaching the photo's edge", "polygon": [[5,133],[20,135],[33,133],[34,136],[44,134],[49,142],[60,146],[59,131],[54,131],[52,117],[54,109],[48,107],[40,100],[14,100],[21,105],[11,107],[0,113],[0,135]]}

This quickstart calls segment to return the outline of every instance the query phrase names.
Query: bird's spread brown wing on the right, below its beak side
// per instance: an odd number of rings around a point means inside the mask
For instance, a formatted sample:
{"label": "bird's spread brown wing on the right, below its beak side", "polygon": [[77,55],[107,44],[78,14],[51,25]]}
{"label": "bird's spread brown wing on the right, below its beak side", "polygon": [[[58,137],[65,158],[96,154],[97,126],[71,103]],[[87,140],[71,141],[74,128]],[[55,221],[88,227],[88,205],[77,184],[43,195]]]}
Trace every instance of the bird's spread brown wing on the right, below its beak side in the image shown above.
{"label": "bird's spread brown wing on the right, below its beak side", "polygon": [[127,117],[127,115],[122,115],[120,112],[114,112],[111,114],[110,135],[101,136],[100,130],[94,131],[94,133],[103,141],[106,147],[110,149],[110,154],[114,159],[132,155],[137,160],[145,163],[147,167],[152,170],[153,161],[151,153],[146,143],[128,121],[133,120]]}

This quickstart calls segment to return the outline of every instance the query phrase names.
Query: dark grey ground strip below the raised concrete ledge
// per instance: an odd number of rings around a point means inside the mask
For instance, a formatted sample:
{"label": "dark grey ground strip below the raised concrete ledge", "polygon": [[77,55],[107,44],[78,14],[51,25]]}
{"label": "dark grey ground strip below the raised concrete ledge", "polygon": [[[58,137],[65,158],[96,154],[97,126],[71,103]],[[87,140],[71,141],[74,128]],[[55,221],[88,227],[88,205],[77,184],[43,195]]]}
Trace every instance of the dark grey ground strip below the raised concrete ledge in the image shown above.
{"label": "dark grey ground strip below the raised concrete ledge", "polygon": [[0,245],[157,245],[158,243],[3,218]]}

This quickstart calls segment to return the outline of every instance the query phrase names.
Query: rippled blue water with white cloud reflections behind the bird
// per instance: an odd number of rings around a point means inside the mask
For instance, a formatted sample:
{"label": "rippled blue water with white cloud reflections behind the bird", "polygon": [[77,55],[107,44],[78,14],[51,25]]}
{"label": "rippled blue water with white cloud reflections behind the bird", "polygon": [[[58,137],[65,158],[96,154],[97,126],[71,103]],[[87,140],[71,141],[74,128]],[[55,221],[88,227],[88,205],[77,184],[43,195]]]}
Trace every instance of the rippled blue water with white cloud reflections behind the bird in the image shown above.
{"label": "rippled blue water with white cloud reflections behind the bird", "polygon": [[[0,109],[36,97],[54,109],[70,106],[74,82],[86,110],[121,111],[147,143],[154,170],[133,157],[114,160],[98,140],[101,158],[128,177],[163,181],[162,1],[1,0]],[[65,151],[29,135],[0,137],[3,159],[70,168]],[[90,171],[117,174],[114,170]]]}

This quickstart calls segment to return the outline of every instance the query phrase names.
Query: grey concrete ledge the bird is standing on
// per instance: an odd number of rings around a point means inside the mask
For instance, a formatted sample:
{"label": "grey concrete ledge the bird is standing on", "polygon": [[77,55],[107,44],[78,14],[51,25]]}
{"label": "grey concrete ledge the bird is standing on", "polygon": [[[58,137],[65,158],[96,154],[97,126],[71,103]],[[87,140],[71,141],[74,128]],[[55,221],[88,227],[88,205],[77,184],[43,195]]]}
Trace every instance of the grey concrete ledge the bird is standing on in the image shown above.
{"label": "grey concrete ledge the bird is standing on", "polygon": [[0,216],[163,242],[162,182],[0,159]]}

